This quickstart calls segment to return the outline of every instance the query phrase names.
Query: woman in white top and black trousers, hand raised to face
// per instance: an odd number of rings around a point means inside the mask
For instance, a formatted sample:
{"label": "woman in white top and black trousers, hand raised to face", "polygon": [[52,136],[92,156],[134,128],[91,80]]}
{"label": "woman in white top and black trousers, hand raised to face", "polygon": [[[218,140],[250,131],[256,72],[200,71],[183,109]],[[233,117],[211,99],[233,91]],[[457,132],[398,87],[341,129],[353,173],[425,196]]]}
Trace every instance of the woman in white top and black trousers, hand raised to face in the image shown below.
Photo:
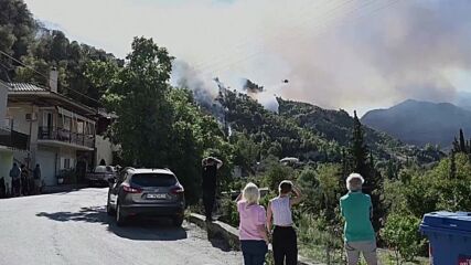
{"label": "woman in white top and black trousers, hand raised to face", "polygon": [[[278,187],[279,195],[268,203],[267,229],[272,232],[272,250],[275,265],[298,264],[298,242],[292,227],[291,208],[301,202],[302,193],[291,181],[283,180]],[[295,193],[295,198],[290,194]],[[272,222],[271,222],[272,219]]]}

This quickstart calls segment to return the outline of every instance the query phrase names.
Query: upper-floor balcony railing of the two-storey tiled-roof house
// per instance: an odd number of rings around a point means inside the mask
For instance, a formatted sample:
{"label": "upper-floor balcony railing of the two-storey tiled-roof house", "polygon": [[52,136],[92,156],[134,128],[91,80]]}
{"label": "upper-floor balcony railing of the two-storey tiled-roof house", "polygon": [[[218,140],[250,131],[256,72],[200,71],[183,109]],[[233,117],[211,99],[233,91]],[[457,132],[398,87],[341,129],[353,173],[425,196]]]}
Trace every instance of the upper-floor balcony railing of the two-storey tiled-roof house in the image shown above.
{"label": "upper-floor balcony railing of the two-storey tiled-roof house", "polygon": [[88,148],[94,148],[94,136],[72,132],[66,129],[40,127],[38,138],[40,140],[57,140]]}

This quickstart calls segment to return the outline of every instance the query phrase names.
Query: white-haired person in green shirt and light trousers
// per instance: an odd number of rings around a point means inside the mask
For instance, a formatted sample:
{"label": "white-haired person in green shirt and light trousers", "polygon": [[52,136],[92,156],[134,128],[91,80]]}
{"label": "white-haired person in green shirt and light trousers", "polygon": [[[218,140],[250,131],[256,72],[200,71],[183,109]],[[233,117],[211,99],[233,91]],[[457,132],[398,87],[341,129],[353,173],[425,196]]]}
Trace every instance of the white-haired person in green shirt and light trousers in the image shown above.
{"label": "white-haired person in green shirt and light trousers", "polygon": [[346,178],[349,193],[340,199],[340,209],[345,219],[344,242],[349,265],[358,264],[363,253],[368,265],[377,265],[376,236],[371,218],[373,205],[370,195],[362,192],[364,179],[358,173]]}

